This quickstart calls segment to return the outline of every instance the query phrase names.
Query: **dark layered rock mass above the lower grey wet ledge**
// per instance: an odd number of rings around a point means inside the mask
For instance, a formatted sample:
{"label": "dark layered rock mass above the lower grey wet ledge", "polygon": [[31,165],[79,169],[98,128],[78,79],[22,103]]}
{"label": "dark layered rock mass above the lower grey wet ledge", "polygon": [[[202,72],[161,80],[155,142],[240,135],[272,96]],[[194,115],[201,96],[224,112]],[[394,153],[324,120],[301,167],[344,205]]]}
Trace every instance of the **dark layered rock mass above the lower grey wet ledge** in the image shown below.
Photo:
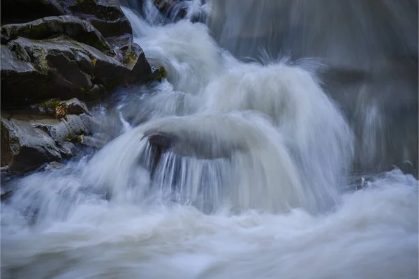
{"label": "dark layered rock mass above the lower grey wet ledge", "polygon": [[[2,1],[2,13],[16,8],[9,2]],[[2,108],[47,98],[100,100],[115,86],[152,78],[117,1],[17,2],[50,7],[47,15],[52,16],[31,22],[6,13],[2,18],[2,23],[13,22],[1,27]]]}

